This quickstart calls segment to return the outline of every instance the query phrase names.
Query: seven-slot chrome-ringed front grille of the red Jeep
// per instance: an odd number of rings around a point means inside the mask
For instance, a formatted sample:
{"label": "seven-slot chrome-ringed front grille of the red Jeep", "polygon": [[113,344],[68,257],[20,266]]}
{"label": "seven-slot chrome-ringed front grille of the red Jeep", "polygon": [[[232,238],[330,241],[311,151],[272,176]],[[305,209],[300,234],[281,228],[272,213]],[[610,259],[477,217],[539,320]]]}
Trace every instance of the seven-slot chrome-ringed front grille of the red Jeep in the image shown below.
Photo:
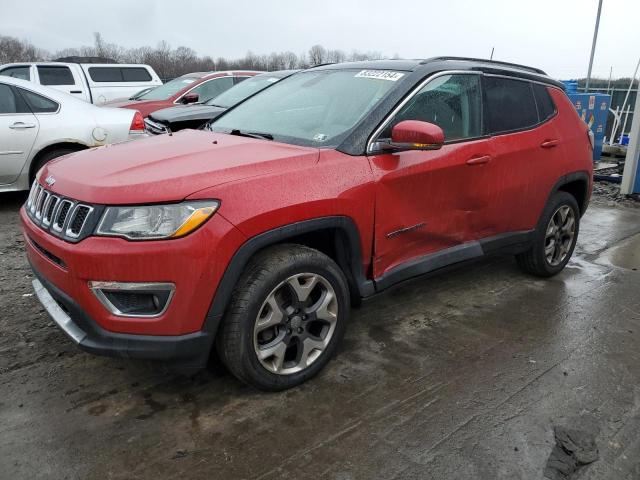
{"label": "seven-slot chrome-ringed front grille of the red Jeep", "polygon": [[102,207],[55,195],[34,182],[25,209],[33,223],[43,230],[77,242],[93,231],[100,213],[96,209]]}

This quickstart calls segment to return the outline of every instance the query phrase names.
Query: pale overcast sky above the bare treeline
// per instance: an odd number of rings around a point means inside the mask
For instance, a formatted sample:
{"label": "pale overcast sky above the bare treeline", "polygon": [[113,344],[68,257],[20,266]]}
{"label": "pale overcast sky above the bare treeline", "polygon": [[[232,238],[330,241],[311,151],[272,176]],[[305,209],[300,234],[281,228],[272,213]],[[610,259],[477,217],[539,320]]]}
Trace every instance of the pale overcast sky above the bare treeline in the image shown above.
{"label": "pale overcast sky above the bare treeline", "polygon": [[[319,43],[403,58],[489,57],[585,76],[598,0],[0,0],[0,34],[51,51],[93,42],[191,47],[240,57]],[[640,1],[604,0],[594,73],[631,76]]]}

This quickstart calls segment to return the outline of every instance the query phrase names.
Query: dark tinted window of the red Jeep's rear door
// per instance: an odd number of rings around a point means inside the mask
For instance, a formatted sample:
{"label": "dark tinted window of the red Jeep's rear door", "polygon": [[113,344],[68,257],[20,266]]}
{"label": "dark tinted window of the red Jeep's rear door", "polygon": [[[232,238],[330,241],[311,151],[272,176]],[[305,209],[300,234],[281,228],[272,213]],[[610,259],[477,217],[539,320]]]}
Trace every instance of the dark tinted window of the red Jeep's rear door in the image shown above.
{"label": "dark tinted window of the red Jeep's rear door", "polygon": [[485,77],[484,92],[486,133],[521,130],[538,123],[538,111],[530,82]]}

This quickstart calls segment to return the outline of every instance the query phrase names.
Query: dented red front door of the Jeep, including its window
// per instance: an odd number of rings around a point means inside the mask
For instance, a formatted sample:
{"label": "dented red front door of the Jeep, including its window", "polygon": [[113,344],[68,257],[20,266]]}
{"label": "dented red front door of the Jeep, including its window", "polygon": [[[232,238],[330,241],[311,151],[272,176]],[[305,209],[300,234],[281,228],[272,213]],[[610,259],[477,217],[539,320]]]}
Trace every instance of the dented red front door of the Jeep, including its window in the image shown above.
{"label": "dented red front door of the Jeep, including its window", "polygon": [[432,78],[374,140],[390,138],[393,126],[403,120],[440,126],[445,145],[435,151],[369,155],[377,182],[375,278],[407,261],[475,240],[485,223],[493,147],[482,136],[480,74]]}

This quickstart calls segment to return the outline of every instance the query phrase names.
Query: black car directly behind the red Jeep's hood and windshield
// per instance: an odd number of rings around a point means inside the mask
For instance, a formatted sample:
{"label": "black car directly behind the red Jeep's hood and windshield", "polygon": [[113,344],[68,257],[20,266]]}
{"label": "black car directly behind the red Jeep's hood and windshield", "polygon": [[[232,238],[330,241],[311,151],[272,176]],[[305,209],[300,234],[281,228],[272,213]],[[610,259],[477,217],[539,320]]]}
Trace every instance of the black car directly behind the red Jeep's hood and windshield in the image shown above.
{"label": "black car directly behind the red Jeep's hood and windshield", "polygon": [[204,103],[178,105],[163,108],[144,119],[145,129],[151,135],[177,132],[185,128],[200,128],[217,118],[228,108],[237,105],[256,93],[264,90],[298,70],[280,70],[261,73],[253,78],[231,87],[224,93]]}

